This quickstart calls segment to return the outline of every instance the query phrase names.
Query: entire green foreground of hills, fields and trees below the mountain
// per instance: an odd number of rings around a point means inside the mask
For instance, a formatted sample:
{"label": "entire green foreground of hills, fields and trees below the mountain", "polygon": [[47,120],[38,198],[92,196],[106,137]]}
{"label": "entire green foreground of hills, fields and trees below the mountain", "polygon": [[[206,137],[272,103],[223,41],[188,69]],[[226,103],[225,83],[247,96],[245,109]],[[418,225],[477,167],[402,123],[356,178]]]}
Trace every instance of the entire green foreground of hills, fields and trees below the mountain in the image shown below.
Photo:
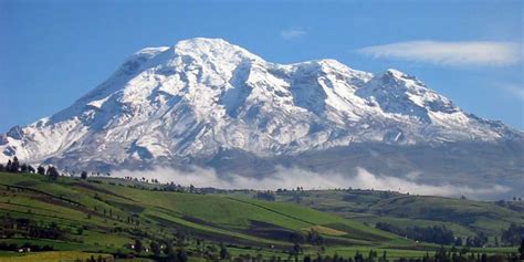
{"label": "entire green foreground of hills, fields and trees below the mountain", "polygon": [[[61,177],[56,170],[40,167],[33,169],[39,174],[18,170],[0,172],[0,261],[138,256],[440,262],[452,258],[483,261],[481,253],[494,261],[513,261],[517,258],[514,247],[524,232],[517,202],[369,190],[198,189],[88,178],[87,174]],[[486,227],[485,221],[494,224]],[[497,228],[501,221],[511,227]],[[497,229],[502,232],[495,234],[496,244],[468,238],[485,234],[493,239],[491,233]]]}

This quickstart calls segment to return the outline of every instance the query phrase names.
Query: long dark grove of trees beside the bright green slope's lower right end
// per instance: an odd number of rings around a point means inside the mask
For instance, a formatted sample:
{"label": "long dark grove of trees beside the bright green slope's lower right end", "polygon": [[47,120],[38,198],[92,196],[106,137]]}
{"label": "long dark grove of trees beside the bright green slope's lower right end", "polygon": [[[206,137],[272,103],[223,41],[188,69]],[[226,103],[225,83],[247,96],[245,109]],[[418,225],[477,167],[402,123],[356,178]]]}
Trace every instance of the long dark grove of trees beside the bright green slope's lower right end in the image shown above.
{"label": "long dark grove of trees beside the bright green slope's lower right end", "polygon": [[398,235],[404,235],[412,240],[430,243],[452,244],[455,240],[453,231],[447,229],[443,226],[401,228],[387,222],[378,222],[376,228],[396,233]]}

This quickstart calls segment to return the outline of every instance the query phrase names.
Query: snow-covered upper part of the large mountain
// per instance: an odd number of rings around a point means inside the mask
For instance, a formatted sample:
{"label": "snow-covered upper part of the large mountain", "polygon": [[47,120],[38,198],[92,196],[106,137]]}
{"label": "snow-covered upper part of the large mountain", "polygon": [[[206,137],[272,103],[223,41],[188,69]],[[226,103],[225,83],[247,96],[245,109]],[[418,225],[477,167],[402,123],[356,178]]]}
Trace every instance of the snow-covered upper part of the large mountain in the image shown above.
{"label": "snow-covered upper part of the large mountain", "polygon": [[418,78],[335,60],[276,64],[219,39],[147,48],[71,107],[0,135],[0,161],[178,165],[224,150],[297,156],[365,143],[522,139]]}

